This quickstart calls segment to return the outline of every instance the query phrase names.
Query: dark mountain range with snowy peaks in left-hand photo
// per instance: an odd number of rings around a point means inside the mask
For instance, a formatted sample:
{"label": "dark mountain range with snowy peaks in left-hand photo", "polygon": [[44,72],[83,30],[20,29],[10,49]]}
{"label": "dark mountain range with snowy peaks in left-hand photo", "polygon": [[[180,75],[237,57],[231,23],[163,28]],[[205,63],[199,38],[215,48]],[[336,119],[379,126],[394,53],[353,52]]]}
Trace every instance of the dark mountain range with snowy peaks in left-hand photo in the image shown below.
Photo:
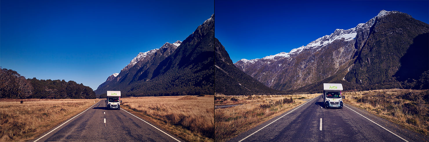
{"label": "dark mountain range with snowy peaks in left-hand photo", "polygon": [[97,95],[120,90],[127,96],[211,95],[214,93],[215,15],[183,42],[140,52],[120,73],[100,84]]}

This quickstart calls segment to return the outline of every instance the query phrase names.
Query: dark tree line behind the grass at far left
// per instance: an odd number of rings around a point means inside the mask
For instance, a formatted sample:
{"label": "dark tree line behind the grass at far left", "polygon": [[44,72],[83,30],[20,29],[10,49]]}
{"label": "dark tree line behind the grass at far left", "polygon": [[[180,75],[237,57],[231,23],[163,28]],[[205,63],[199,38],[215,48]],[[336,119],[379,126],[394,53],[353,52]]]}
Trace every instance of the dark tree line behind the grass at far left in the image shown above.
{"label": "dark tree line behind the grass at far left", "polygon": [[0,67],[0,98],[95,99],[94,91],[75,81],[25,79],[15,70]]}

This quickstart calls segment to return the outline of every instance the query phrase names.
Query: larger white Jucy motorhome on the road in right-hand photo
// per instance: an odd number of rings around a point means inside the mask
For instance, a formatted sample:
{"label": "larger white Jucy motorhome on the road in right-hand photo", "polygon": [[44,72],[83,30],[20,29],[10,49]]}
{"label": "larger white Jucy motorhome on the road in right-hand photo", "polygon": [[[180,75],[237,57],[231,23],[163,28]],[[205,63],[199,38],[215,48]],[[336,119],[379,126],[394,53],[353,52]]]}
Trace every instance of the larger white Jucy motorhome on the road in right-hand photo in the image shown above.
{"label": "larger white Jucy motorhome on the road in right-hand photo", "polygon": [[344,96],[341,94],[343,85],[339,83],[324,83],[323,84],[323,104],[325,108],[339,107],[343,108]]}

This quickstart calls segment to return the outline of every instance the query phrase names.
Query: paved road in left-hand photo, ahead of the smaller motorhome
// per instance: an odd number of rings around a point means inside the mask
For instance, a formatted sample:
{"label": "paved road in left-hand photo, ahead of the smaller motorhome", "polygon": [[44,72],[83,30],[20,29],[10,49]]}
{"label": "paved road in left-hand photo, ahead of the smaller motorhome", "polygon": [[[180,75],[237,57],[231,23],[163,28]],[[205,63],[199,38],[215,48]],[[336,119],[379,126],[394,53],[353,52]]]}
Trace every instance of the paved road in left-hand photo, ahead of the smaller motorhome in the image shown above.
{"label": "paved road in left-hand photo, ahead of the smaller motorhome", "polygon": [[[68,122],[67,122],[68,121]],[[158,130],[125,110],[105,110],[101,100],[66,122],[31,140],[44,141],[124,141],[177,142],[175,136]],[[55,130],[54,130],[55,129]],[[164,133],[165,132],[165,133]],[[174,137],[174,138],[172,138]],[[41,138],[41,139],[39,139]],[[178,139],[182,141],[181,139]]]}

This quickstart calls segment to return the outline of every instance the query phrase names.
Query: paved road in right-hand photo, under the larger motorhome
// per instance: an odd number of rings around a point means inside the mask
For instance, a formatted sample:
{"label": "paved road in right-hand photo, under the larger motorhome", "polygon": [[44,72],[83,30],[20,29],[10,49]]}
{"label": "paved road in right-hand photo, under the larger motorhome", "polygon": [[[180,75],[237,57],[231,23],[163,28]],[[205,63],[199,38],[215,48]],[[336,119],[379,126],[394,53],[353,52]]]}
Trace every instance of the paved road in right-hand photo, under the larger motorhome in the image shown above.
{"label": "paved road in right-hand photo, under the larger motorhome", "polygon": [[421,142],[428,139],[348,104],[343,109],[324,109],[321,105],[322,98],[317,96],[230,142]]}

